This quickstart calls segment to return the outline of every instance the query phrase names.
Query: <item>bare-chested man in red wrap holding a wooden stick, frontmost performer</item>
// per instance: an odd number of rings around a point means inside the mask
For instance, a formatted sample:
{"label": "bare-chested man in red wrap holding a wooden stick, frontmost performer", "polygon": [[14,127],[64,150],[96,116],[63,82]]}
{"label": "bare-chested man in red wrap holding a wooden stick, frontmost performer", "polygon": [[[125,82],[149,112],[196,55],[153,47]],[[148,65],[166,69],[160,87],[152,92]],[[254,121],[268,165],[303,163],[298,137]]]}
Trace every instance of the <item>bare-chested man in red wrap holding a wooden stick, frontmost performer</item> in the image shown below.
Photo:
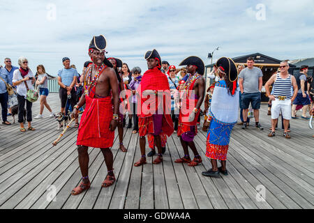
{"label": "bare-chested man in red wrap holding a wooden stick, frontmost performer", "polygon": [[[88,176],[88,148],[100,148],[105,157],[107,176],[102,187],[109,187],[115,181],[113,155],[110,151],[117,128],[119,110],[119,87],[112,64],[105,59],[105,36],[94,36],[89,45],[93,64],[84,72],[84,95],[73,107],[72,118],[78,117],[78,110],[86,103],[77,134],[77,151],[82,182],[72,191],[73,195],[88,190],[91,183]],[[112,98],[114,112],[112,112]]]}

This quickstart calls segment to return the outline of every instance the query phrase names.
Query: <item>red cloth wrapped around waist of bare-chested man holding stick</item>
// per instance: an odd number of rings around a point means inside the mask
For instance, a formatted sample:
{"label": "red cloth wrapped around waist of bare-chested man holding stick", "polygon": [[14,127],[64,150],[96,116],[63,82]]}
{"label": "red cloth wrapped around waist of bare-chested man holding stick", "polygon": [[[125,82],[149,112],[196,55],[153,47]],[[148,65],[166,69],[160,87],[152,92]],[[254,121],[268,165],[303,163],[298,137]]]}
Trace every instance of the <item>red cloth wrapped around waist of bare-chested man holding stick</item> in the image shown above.
{"label": "red cloth wrapped around waist of bare-chested man holding stick", "polygon": [[95,148],[110,148],[114,132],[110,131],[112,121],[111,97],[91,98],[85,95],[86,107],[82,114],[77,134],[77,145]]}

